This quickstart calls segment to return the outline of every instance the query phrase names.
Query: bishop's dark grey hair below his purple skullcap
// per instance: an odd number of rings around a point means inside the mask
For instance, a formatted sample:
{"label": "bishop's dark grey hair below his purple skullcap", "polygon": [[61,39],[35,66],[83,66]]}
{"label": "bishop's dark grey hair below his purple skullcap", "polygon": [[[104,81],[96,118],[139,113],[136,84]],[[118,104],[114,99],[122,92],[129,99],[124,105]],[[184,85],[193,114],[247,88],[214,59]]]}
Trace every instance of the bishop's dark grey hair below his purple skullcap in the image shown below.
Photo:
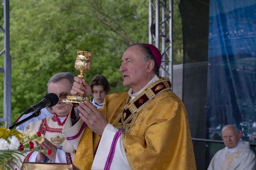
{"label": "bishop's dark grey hair below his purple skullcap", "polygon": [[143,52],[143,54],[145,54],[145,61],[148,62],[150,60],[153,60],[154,63],[155,63],[155,66],[153,68],[153,72],[158,76],[159,75],[159,69],[158,69],[158,64],[157,64],[157,61],[156,61],[156,58],[155,56],[153,55],[153,53],[151,52],[150,48],[148,48],[145,44],[142,44],[142,43],[135,43],[135,44],[131,44],[129,46],[126,47],[125,51],[132,47],[132,46],[135,46],[135,45],[138,45],[141,49],[141,51]]}

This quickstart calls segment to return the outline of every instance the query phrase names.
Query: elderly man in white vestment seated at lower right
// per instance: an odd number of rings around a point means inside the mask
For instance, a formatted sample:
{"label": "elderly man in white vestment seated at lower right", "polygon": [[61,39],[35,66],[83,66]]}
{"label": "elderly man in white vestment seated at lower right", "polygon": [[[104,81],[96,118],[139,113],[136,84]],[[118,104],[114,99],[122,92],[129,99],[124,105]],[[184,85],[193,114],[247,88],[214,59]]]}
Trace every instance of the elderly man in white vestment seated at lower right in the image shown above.
{"label": "elderly man in white vestment seated at lower right", "polygon": [[236,126],[224,126],[222,137],[226,147],[213,156],[208,170],[256,169],[255,153],[251,150],[249,142],[240,140],[241,136]]}

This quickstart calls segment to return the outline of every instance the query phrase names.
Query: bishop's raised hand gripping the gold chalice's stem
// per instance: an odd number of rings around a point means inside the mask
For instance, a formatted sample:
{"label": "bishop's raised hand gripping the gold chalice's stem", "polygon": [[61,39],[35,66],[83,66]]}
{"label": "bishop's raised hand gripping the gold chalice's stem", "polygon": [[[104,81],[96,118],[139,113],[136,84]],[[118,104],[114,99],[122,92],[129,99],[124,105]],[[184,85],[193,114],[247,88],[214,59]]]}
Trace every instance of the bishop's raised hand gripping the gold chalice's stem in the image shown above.
{"label": "bishop's raised hand gripping the gold chalice's stem", "polygon": [[73,87],[72,87],[72,90],[70,91],[70,93],[71,94],[80,93],[80,94],[90,98],[91,97],[91,87],[85,82],[85,80],[83,79],[83,81],[82,81],[78,77],[75,77],[74,80],[75,80],[75,82],[73,83]]}

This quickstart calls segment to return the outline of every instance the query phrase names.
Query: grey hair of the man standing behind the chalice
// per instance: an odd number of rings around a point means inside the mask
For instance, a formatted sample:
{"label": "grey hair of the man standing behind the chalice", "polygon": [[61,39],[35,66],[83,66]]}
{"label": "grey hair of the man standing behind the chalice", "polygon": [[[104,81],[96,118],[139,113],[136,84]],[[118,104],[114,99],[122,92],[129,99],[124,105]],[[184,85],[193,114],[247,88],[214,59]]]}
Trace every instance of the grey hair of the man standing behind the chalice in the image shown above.
{"label": "grey hair of the man standing behind the chalice", "polygon": [[75,75],[72,74],[71,72],[60,72],[57,73],[55,75],[53,75],[53,77],[51,77],[51,79],[48,81],[47,83],[47,87],[49,86],[49,84],[52,83],[57,83],[59,81],[61,81],[62,79],[67,79],[69,81],[69,86],[70,88],[72,88],[73,83],[74,83],[74,77]]}

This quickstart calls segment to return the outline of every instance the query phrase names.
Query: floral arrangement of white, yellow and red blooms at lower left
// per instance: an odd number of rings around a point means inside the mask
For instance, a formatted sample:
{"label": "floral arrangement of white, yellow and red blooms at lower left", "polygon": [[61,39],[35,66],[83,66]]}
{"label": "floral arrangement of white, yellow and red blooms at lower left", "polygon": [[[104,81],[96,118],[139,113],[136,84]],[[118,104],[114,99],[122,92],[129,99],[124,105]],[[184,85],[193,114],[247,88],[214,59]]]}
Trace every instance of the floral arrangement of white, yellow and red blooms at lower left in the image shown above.
{"label": "floral arrangement of white, yellow and red blooms at lower left", "polygon": [[28,130],[27,132],[15,129],[0,128],[0,169],[10,169],[10,165],[18,166],[23,163],[20,158],[25,152],[40,151],[51,154],[51,150],[44,150],[35,143],[42,143],[44,136],[40,132]]}

